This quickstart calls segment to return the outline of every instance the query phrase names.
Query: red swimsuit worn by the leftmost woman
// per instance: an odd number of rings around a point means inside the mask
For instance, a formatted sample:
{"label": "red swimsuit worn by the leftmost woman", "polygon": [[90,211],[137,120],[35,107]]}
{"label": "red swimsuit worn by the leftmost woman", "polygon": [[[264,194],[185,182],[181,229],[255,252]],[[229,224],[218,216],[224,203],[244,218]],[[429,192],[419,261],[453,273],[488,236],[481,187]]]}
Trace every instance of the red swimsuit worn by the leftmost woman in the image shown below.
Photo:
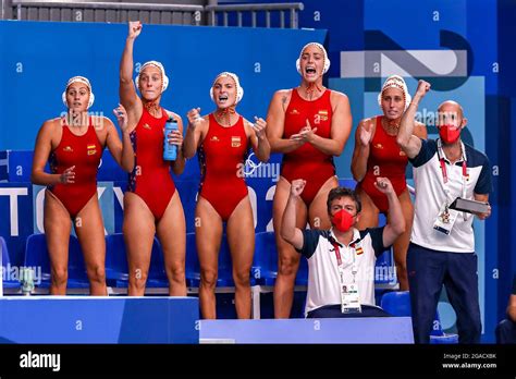
{"label": "red swimsuit worn by the leftmost woman", "polygon": [[63,204],[72,218],[97,196],[97,171],[102,157],[103,147],[89,119],[86,133],[82,136],[70,131],[63,119],[63,134],[58,147],[50,155],[50,170],[62,174],[64,170],[75,166],[75,183],[54,184],[48,190]]}

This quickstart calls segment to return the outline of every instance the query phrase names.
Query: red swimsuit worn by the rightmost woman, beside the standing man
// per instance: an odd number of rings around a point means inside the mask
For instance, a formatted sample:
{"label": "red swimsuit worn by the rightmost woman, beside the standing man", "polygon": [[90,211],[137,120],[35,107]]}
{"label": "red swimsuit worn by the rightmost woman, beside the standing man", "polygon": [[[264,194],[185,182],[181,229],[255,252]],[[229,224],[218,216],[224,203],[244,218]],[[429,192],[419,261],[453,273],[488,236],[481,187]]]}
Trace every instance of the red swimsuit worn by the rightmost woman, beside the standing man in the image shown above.
{"label": "red swimsuit worn by the rightmost woman, beside the standing man", "polygon": [[369,195],[381,212],[389,210],[389,201],[386,196],[374,186],[377,176],[389,178],[396,195],[400,196],[407,187],[405,178],[407,163],[408,158],[397,145],[396,136],[386,134],[382,126],[382,117],[377,117],[366,176],[358,185]]}

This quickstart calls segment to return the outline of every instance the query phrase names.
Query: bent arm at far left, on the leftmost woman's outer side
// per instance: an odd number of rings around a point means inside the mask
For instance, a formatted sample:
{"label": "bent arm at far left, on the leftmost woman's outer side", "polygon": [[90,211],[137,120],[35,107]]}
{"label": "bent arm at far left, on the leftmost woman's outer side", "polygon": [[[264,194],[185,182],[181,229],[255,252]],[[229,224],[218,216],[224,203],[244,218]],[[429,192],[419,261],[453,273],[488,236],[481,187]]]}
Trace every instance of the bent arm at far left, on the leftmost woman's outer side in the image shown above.
{"label": "bent arm at far left, on the leftmost woman's outer side", "polygon": [[30,182],[39,185],[53,185],[58,183],[67,184],[75,182],[75,166],[64,170],[62,174],[51,174],[45,172],[48,157],[52,151],[52,134],[56,130],[56,121],[50,120],[42,124],[36,138],[34,147],[33,170]]}

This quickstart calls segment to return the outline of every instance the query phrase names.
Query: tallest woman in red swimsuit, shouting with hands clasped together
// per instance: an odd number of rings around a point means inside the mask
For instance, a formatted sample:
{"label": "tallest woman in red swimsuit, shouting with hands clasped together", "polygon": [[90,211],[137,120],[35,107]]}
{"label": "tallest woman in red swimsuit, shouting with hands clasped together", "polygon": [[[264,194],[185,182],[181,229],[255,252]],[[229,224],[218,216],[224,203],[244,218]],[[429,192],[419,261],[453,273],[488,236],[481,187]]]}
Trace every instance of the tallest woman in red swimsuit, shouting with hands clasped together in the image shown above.
{"label": "tallest woman in red swimsuit, shouting with hands clasped together", "polygon": [[347,96],[322,86],[322,75],[330,68],[324,47],[306,45],[297,60],[302,75],[299,87],[278,90],[267,115],[272,152],[283,154],[281,176],[275,187],[272,218],[278,246],[278,279],[274,285],[274,316],[287,318],[294,298],[294,282],[299,254],[281,237],[281,219],[288,199],[291,183],[306,180],[299,203],[297,228],[329,229],[327,198],[339,186],[333,157],[340,156],[352,131]]}

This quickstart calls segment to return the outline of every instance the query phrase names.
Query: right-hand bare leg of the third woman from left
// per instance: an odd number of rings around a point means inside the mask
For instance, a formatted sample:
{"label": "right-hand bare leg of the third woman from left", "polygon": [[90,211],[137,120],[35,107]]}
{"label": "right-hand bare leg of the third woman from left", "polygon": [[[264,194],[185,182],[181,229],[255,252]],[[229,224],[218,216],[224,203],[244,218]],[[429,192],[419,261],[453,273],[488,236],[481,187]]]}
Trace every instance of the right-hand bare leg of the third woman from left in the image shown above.
{"label": "right-hand bare leg of the third woman from left", "polygon": [[228,220],[228,242],[236,288],[236,316],[250,318],[249,276],[255,254],[255,224],[248,196],[241,200]]}

